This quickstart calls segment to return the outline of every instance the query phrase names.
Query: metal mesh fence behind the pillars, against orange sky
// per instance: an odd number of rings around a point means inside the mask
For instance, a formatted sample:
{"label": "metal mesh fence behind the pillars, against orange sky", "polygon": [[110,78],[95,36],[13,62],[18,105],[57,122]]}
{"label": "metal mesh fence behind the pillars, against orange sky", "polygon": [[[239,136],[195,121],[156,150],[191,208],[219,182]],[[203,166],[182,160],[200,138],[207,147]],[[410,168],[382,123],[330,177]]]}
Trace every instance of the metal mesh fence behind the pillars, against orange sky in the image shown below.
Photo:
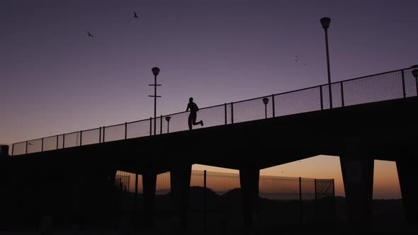
{"label": "metal mesh fence behind the pillars, against orange sky", "polygon": [[[137,177],[137,179],[136,179]],[[135,186],[136,181],[136,186]],[[206,183],[205,183],[206,181]],[[115,184],[129,193],[142,193],[142,176],[125,171],[117,171]],[[213,171],[191,171],[191,187],[206,187],[218,195],[240,188],[239,173]],[[170,173],[157,175],[156,194],[164,195],[171,191]],[[300,191],[301,190],[301,191]],[[295,178],[283,176],[260,176],[260,197],[271,200],[314,200],[334,195],[334,180],[315,178]]]}

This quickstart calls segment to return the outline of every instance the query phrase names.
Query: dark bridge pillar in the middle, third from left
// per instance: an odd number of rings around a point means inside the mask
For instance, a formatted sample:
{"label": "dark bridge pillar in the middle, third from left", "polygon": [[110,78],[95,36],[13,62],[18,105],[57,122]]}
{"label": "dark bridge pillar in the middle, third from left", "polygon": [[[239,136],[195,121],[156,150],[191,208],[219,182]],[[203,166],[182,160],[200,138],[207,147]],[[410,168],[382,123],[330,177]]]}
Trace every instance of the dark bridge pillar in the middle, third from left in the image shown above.
{"label": "dark bridge pillar in the middle, third from left", "polygon": [[244,168],[239,170],[244,226],[254,226],[254,219],[259,212],[259,178],[259,169]]}

